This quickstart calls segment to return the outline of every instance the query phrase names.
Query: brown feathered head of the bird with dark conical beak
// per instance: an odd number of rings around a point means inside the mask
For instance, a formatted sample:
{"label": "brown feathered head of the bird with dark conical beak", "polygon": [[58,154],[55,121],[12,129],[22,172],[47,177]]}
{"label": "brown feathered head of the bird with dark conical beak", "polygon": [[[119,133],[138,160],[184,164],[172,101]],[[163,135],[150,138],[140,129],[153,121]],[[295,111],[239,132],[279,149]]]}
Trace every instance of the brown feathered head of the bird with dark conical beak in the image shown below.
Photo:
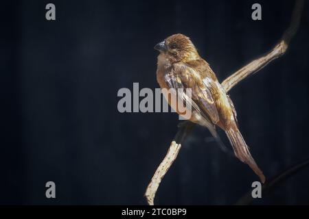
{"label": "brown feathered head of the bird with dark conical beak", "polygon": [[160,51],[161,55],[164,55],[172,63],[189,62],[200,58],[190,38],[183,34],[169,36],[156,44],[155,49]]}

